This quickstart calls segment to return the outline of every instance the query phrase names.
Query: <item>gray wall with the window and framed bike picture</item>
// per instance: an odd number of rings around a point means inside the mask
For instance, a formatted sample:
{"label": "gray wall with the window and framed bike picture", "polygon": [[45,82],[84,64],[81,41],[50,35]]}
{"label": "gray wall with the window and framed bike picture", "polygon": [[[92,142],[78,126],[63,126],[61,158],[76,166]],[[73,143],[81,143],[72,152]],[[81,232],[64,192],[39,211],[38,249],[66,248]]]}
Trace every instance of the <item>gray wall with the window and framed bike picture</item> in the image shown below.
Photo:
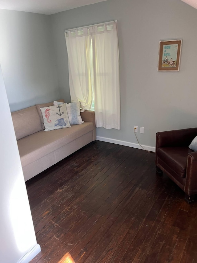
{"label": "gray wall with the window and framed bike picture", "polygon": [[[180,0],[108,0],[51,15],[60,97],[70,100],[64,30],[118,19],[121,130],[97,135],[155,146],[155,133],[196,127],[197,10]],[[157,72],[159,40],[183,39],[179,72]]]}

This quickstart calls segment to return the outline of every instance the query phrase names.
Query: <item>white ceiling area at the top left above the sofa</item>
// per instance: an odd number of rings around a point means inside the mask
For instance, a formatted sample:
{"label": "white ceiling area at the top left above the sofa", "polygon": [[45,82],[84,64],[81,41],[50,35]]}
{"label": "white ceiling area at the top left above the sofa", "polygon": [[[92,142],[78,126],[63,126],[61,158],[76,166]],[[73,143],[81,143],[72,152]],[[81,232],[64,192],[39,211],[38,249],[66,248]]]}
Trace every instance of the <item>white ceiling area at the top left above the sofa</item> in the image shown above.
{"label": "white ceiling area at the top left above the sofa", "polygon": [[107,0],[0,0],[0,9],[55,14]]}

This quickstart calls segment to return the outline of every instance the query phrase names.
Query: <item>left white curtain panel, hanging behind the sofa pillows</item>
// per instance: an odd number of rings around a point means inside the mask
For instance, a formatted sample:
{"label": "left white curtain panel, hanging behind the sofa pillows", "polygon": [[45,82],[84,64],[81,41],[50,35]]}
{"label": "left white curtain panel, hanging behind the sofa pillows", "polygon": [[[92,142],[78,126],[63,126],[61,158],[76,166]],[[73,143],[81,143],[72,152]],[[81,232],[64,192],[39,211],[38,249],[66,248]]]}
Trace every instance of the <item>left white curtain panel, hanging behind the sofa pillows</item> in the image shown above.
{"label": "left white curtain panel, hanging behind the sofa pillows", "polygon": [[65,33],[68,53],[69,86],[72,102],[81,102],[82,110],[92,105],[92,88],[90,73],[90,41],[88,29],[68,31]]}

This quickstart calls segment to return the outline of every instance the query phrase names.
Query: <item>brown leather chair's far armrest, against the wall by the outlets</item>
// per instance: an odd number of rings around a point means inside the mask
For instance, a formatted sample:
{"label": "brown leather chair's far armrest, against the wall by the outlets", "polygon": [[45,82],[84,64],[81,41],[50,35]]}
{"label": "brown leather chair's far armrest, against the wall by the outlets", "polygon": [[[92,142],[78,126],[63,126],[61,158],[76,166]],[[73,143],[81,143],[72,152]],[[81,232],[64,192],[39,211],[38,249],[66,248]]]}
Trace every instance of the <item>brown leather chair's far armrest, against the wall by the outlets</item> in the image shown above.
{"label": "brown leather chair's far armrest, against the wall by the outlets", "polygon": [[196,135],[197,128],[157,132],[156,149],[167,146],[189,146]]}

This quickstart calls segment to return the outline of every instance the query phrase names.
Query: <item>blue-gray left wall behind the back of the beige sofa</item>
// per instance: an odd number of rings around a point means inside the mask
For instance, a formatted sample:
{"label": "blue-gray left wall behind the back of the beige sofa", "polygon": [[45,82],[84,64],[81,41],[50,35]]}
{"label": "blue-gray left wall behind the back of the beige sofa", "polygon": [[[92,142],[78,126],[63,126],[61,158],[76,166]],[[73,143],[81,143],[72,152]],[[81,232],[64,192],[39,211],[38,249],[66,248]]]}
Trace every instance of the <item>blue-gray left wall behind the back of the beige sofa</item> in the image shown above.
{"label": "blue-gray left wall behind the back of the beige sofa", "polygon": [[0,61],[11,111],[59,98],[50,16],[0,9]]}

